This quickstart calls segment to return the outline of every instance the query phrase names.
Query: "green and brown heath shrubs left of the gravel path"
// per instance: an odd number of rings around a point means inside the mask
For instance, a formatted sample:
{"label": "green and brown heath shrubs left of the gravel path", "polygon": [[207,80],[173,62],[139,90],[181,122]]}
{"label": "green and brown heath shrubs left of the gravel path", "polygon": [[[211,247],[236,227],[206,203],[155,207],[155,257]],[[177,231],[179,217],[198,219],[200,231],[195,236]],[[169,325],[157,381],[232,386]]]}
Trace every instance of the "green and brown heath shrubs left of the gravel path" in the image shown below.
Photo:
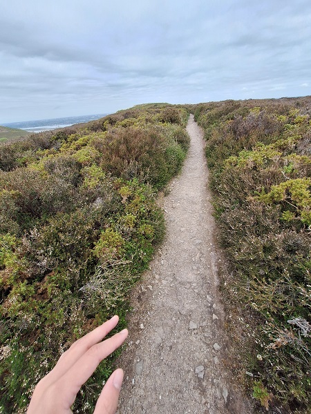
{"label": "green and brown heath shrubs left of the gravel path", "polygon": [[[25,413],[77,338],[115,314],[124,327],[164,236],[156,197],[185,159],[186,121],[182,108],[139,106],[0,146],[0,413]],[[92,411],[112,367],[75,411]]]}

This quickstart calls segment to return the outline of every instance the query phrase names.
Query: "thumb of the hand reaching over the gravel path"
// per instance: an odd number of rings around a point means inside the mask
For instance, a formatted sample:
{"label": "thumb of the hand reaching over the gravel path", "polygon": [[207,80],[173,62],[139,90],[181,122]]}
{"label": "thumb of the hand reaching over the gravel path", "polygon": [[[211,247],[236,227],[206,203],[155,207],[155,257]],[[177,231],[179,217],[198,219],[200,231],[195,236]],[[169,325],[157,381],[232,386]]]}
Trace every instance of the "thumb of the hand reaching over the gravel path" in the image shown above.
{"label": "thumb of the hand reaching over the gravel path", "polygon": [[120,368],[111,374],[97,400],[94,414],[115,414],[123,375],[124,372]]}

